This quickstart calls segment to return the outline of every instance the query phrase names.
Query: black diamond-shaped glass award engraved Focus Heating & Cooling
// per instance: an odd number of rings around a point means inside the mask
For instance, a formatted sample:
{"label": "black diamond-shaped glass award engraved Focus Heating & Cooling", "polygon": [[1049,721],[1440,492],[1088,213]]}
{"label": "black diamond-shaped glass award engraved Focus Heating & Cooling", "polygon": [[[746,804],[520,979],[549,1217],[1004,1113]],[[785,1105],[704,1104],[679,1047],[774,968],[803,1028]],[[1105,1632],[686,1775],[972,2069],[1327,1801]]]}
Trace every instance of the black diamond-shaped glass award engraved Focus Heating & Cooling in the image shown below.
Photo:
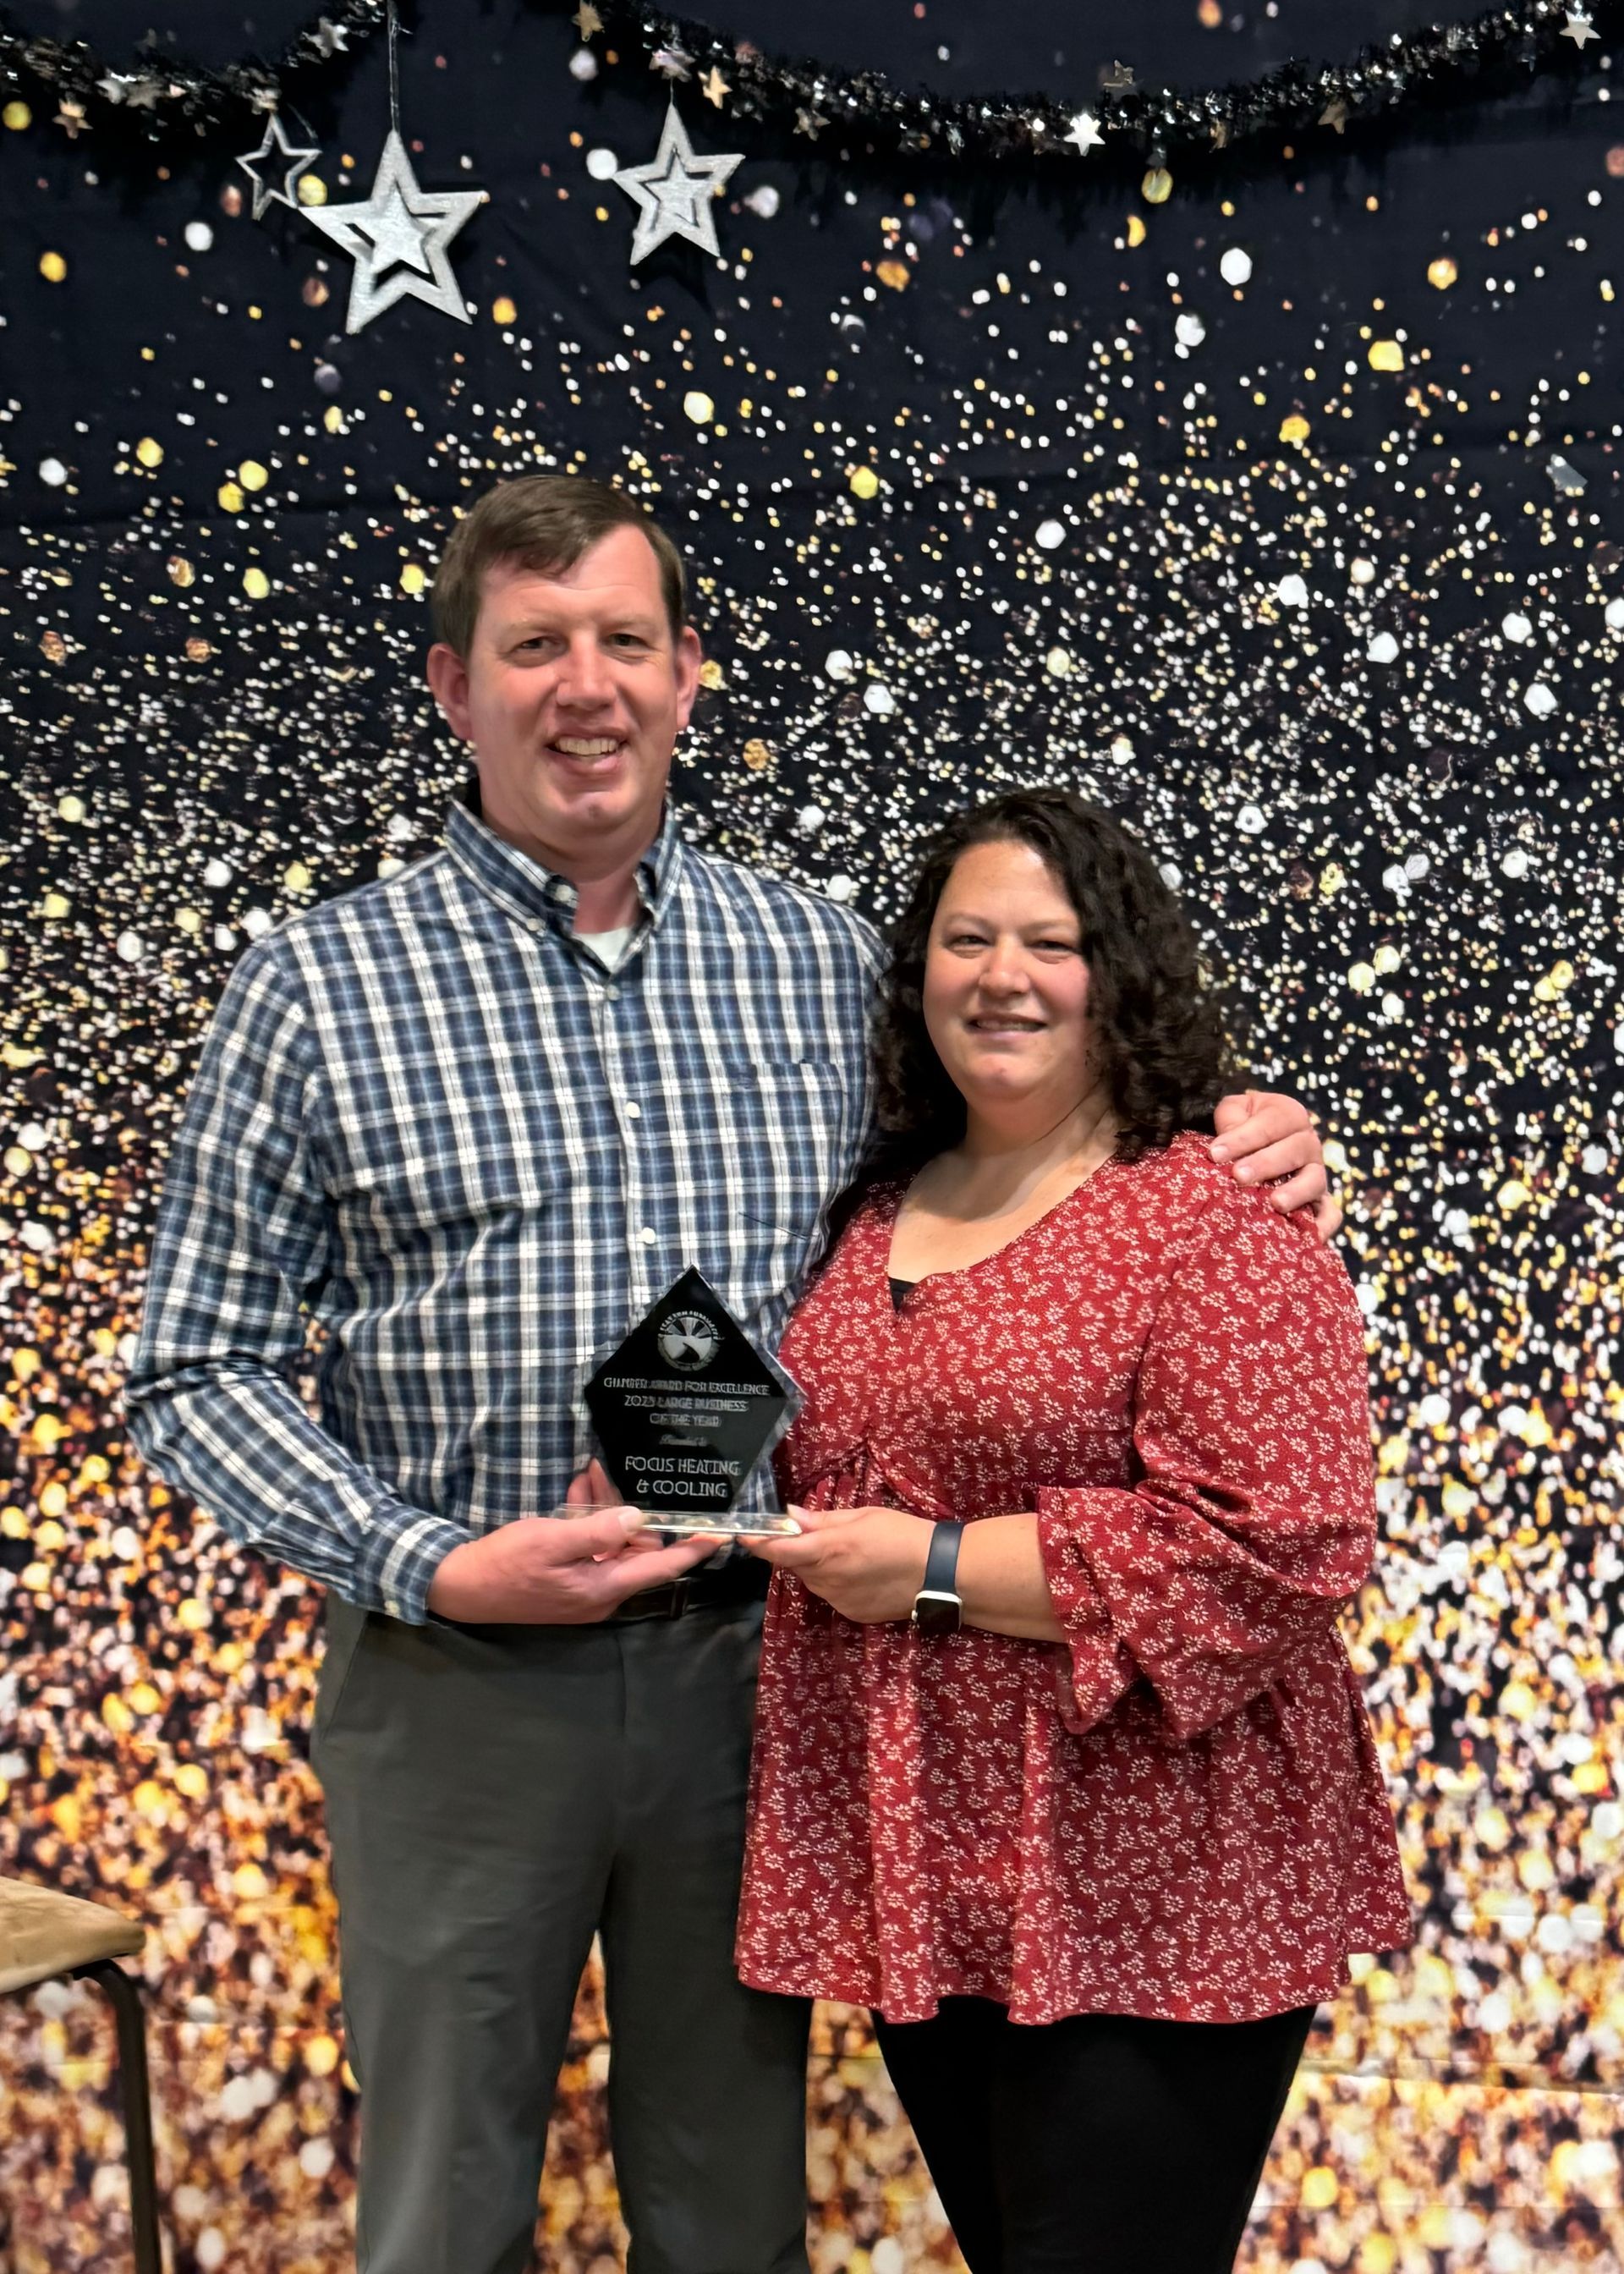
{"label": "black diamond-shaped glass award engraved Focus Heating & Cooling", "polygon": [[732,1514],[801,1392],[755,1348],[701,1271],[685,1271],[591,1373],[587,1412],[614,1489],[662,1533],[794,1533]]}

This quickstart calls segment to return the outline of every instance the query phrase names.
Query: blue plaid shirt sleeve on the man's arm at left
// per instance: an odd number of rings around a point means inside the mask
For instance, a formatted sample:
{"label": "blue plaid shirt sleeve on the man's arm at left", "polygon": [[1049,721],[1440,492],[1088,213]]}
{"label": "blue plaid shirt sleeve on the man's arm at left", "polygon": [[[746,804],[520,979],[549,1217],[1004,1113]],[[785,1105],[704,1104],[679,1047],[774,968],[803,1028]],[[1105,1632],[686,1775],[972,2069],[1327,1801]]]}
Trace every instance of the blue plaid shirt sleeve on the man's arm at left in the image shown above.
{"label": "blue plaid shirt sleeve on the man's arm at left", "polygon": [[323,1076],[275,941],[221,998],[164,1180],[125,1387],[130,1435],[243,1546],[421,1624],[469,1533],[323,1430],[291,1376],[328,1280]]}

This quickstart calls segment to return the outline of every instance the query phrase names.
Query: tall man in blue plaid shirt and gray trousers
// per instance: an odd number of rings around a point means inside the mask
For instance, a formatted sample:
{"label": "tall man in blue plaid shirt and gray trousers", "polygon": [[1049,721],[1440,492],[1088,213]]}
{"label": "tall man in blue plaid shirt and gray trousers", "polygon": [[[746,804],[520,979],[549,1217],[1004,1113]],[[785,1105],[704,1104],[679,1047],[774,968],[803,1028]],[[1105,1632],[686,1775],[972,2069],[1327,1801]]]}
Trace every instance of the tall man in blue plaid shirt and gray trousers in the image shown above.
{"label": "tall man in blue plaid shirt and gray trousers", "polygon": [[[864,1144],[878,951],[678,835],[701,646],[637,505],[494,489],[434,612],[478,787],[441,853],[237,964],[132,1428],[330,1590],[314,1758],[362,2267],[528,2265],[596,1931],[637,2274],[803,2269],[807,2012],[732,1972],[762,1567],[696,1571],[705,1542],[651,1546],[628,1510],[535,1514],[582,1471],[594,1353],[685,1267],[776,1342]],[[1292,1173],[1283,1203],[1324,1192],[1301,1107],[1226,1101],[1221,1126],[1237,1173]],[[312,1319],[318,1421],[289,1387]]]}

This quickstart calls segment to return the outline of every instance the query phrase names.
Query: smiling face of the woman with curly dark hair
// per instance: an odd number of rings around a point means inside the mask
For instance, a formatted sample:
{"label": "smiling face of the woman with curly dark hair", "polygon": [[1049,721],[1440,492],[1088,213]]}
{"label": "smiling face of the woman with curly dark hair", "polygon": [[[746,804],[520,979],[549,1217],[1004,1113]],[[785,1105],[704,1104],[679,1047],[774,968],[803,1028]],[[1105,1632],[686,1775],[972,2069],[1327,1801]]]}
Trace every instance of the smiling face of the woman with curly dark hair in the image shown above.
{"label": "smiling face of the woman with curly dark hair", "polygon": [[971,1112],[1053,1128],[1092,1087],[1089,969],[1064,885],[1033,846],[960,853],[926,948],[930,1041]]}

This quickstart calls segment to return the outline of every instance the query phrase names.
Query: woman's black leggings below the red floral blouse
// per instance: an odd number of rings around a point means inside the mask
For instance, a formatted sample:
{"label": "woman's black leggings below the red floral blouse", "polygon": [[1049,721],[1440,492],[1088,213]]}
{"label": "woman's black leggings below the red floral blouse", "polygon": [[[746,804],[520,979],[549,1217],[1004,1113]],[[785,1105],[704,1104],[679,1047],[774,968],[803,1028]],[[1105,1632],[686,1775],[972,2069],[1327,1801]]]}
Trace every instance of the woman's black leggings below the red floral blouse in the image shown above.
{"label": "woman's black leggings below the red floral blouse", "polygon": [[873,2028],[971,2274],[1231,2274],[1312,2017]]}

